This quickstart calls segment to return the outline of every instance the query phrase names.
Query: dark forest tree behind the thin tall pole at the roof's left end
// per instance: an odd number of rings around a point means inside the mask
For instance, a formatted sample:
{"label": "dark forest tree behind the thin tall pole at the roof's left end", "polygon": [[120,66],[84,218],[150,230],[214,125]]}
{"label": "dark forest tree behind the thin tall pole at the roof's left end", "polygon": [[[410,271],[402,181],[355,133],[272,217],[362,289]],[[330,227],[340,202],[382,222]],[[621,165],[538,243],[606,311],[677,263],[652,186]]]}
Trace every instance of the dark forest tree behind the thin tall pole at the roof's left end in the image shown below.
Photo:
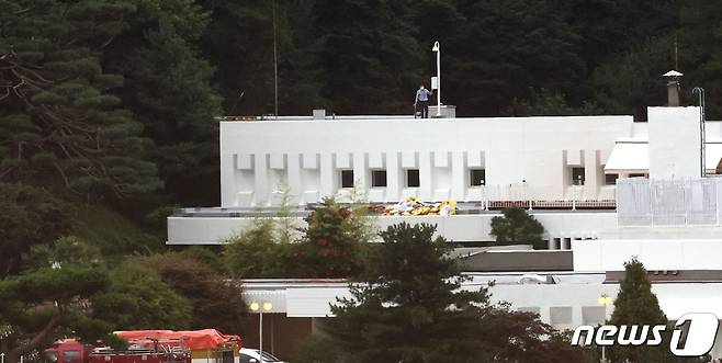
{"label": "dark forest tree behind the thin tall pole at the roof's left end", "polygon": [[203,50],[217,65],[215,81],[228,113],[275,113],[274,43],[279,113],[308,114],[324,106],[319,88],[328,75],[316,58],[319,33],[309,21],[314,1],[214,0],[203,5],[212,16]]}

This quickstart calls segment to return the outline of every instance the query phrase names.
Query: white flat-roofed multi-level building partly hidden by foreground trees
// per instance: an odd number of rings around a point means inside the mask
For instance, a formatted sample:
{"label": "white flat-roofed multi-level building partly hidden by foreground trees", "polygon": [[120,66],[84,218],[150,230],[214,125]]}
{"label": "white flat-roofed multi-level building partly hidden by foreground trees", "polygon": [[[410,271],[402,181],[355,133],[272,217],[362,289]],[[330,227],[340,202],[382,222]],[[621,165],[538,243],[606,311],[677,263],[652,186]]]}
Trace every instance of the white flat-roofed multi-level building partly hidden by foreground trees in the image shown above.
{"label": "white flat-roofed multi-level building partly hidden by foreground trees", "polygon": [[[493,240],[489,222],[498,207],[523,206],[544,225],[550,249],[571,249],[572,262],[559,270],[474,272],[465,288],[496,281],[494,299],[539,313],[557,328],[597,324],[612,308],[597,298],[616,296],[613,272],[636,256],[669,319],[699,311],[722,317],[722,186],[717,178],[700,179],[702,168],[714,173],[722,158],[722,127],[707,123],[702,166],[699,113],[650,107],[647,123],[631,116],[224,121],[221,206],[169,217],[168,243],[221,243],[253,211],[272,211],[284,188],[298,205],[298,223],[306,204],[352,190],[371,203],[454,198],[462,202],[455,216],[376,218],[380,228],[433,223],[454,241]],[[480,253],[517,259],[510,253],[520,252]],[[543,253],[569,251],[522,253],[544,260]],[[519,284],[527,273],[555,283]],[[327,317],[328,304],[348,294],[343,282],[248,281],[246,288],[249,299],[273,299],[273,313],[311,321]]]}

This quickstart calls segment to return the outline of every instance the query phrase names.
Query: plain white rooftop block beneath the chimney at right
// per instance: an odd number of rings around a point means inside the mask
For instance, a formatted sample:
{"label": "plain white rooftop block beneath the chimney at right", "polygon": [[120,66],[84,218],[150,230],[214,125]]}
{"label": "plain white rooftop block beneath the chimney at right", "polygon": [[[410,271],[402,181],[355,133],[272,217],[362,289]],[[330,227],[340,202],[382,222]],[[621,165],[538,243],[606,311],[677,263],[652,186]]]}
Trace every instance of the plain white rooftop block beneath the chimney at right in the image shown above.
{"label": "plain white rooftop block beneath the chimney at right", "polygon": [[647,107],[650,178],[699,178],[699,107]]}

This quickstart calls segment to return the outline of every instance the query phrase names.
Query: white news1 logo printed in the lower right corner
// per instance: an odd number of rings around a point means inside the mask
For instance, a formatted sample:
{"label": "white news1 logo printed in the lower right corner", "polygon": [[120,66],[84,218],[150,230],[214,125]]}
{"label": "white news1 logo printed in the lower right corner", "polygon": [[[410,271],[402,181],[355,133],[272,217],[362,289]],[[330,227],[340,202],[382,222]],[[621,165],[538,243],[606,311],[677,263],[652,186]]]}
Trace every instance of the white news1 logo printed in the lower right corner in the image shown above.
{"label": "white news1 logo printed in the lower right corner", "polygon": [[[669,351],[677,356],[702,356],[709,353],[714,345],[719,325],[714,314],[682,315],[674,325]],[[663,332],[667,329],[665,325],[579,326],[574,330],[572,345],[587,347],[594,343],[600,347],[657,347],[664,343]]]}

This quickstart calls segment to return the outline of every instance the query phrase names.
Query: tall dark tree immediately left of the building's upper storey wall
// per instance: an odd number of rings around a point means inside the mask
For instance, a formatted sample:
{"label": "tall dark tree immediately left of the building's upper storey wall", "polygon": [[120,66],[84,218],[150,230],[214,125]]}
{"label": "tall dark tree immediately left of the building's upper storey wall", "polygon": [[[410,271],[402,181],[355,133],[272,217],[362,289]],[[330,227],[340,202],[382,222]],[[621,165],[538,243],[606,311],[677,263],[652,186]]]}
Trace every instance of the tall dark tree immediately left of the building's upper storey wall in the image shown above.
{"label": "tall dark tree immediately left of the building's upper storey wall", "polygon": [[200,182],[218,178],[221,98],[214,68],[198,44],[210,15],[191,0],[126,0],[128,26],[104,49],[106,67],[126,78],[119,94],[156,148],[165,192],[181,204],[217,201]]}

